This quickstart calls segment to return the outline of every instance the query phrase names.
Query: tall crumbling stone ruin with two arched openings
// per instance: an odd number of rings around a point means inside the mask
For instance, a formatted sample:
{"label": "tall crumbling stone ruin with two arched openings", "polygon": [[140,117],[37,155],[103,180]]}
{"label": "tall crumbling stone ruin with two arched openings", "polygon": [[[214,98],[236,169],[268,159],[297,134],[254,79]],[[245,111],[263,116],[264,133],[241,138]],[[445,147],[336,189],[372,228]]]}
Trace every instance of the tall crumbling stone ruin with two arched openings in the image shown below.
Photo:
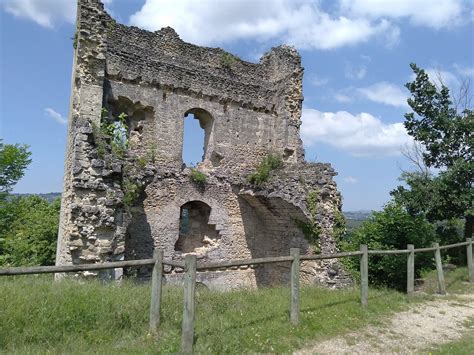
{"label": "tall crumbling stone ruin with two arched openings", "polygon": [[[169,27],[116,23],[99,0],[78,0],[74,48],[57,265],[151,258],[154,248],[173,260],[195,253],[198,262],[337,251],[336,173],[304,159],[303,68],[294,48],[249,63],[186,43]],[[190,114],[204,130],[195,168],[182,159]],[[267,181],[251,182],[269,156],[282,164]],[[198,273],[197,281],[273,285],[289,279],[289,267]],[[166,281],[179,282],[179,271],[165,269]],[[149,274],[115,269],[106,277]],[[347,282],[335,260],[303,262],[301,278]]]}

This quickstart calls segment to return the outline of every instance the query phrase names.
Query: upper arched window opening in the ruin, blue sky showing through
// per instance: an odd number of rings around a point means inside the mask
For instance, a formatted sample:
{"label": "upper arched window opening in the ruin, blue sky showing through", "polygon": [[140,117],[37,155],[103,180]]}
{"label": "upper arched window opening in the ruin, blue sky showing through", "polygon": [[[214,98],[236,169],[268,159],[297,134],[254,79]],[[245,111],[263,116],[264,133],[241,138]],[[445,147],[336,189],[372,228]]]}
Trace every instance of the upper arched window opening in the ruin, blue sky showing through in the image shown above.
{"label": "upper arched window opening in the ruin, blue sky showing through", "polygon": [[[195,122],[194,120],[197,120]],[[199,125],[197,125],[198,123]],[[212,115],[201,108],[192,108],[184,114],[183,148],[181,159],[186,165],[194,165],[210,159],[212,152]],[[202,156],[199,153],[202,146]]]}

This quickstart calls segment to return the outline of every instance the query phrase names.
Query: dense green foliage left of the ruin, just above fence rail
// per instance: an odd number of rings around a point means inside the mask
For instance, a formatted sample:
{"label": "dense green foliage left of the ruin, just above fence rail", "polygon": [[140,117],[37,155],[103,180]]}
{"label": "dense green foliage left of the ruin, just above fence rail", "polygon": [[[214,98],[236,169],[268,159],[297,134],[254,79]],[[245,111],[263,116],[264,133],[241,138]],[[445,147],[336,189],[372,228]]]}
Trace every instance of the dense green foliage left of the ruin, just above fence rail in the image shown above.
{"label": "dense green foliage left of the ruin, just above fence rail", "polygon": [[54,265],[60,206],[35,195],[3,201],[0,265]]}

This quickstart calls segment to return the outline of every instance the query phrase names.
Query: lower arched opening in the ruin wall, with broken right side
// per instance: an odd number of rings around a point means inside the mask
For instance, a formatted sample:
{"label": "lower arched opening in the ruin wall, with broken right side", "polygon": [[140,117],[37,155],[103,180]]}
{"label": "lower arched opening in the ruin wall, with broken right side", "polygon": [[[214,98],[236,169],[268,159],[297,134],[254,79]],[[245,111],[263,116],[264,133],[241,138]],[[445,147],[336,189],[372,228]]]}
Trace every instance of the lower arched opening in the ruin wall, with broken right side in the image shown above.
{"label": "lower arched opening in the ruin wall, with broken right side", "polygon": [[179,237],[174,249],[183,253],[204,251],[216,245],[220,238],[215,224],[209,224],[211,207],[201,201],[181,206]]}

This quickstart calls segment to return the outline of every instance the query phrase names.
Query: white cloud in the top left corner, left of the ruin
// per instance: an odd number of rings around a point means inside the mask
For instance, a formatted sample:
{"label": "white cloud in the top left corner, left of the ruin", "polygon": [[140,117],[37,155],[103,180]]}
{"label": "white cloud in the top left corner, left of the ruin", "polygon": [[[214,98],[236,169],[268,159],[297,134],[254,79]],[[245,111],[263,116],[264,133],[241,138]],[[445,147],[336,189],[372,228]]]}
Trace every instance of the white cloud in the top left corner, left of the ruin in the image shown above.
{"label": "white cloud in the top left corner, left of the ruin", "polygon": [[38,25],[53,28],[60,22],[74,23],[75,0],[3,0],[3,9],[20,18],[32,20]]}

